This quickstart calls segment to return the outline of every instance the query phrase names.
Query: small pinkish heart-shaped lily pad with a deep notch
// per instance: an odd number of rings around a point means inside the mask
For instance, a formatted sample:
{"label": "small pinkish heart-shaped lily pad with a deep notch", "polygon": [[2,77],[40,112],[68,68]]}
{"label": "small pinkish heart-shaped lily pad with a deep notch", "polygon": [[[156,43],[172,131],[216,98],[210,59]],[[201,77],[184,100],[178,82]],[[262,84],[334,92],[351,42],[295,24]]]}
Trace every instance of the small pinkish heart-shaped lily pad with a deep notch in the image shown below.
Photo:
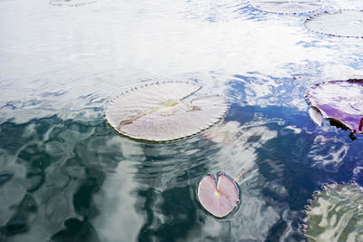
{"label": "small pinkish heart-shaped lily pad with a deep notch", "polygon": [[201,179],[198,188],[201,206],[217,218],[226,217],[237,207],[240,201],[238,184],[225,174],[221,174],[216,183],[213,175]]}

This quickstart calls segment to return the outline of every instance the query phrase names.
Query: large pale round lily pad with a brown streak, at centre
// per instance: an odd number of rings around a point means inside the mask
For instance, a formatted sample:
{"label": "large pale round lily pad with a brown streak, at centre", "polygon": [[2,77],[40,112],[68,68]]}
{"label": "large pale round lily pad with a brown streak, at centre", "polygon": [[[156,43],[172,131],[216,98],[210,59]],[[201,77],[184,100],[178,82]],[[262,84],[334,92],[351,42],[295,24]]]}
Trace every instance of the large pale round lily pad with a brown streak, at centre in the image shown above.
{"label": "large pale round lily pad with a brown streak, at centre", "polygon": [[109,102],[105,116],[116,131],[133,139],[181,139],[221,121],[228,109],[220,95],[196,96],[200,89],[191,82],[145,85]]}

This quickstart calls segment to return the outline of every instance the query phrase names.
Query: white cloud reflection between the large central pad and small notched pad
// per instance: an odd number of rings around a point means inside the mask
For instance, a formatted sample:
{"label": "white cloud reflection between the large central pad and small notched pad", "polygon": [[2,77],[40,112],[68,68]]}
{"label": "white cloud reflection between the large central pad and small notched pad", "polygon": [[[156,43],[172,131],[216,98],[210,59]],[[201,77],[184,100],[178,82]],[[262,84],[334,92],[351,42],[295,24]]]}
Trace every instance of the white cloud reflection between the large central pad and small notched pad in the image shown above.
{"label": "white cloud reflection between the large central pad and small notched pad", "polygon": [[[268,140],[278,136],[277,131],[271,131],[266,124],[277,122],[275,120],[250,121],[240,124],[238,121],[221,123],[202,135],[204,138],[216,142],[221,149],[211,158],[218,160],[211,172],[225,172],[231,178],[236,178],[241,172],[256,165],[258,152],[256,149]],[[256,170],[252,169],[243,180],[253,179]],[[239,181],[242,179],[239,179]]]}

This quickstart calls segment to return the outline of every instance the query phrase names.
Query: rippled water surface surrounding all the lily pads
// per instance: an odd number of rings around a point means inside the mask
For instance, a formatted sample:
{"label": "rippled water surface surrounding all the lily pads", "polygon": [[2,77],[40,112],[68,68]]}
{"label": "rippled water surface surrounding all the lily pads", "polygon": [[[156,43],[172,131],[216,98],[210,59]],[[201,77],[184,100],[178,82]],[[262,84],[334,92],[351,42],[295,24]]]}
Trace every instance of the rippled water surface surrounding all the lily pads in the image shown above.
{"label": "rippled water surface surrounding all the lily pads", "polygon": [[[361,39],[234,0],[12,0],[0,13],[1,241],[304,241],[312,191],[363,185],[363,139],[315,125],[304,98],[313,83],[363,76]],[[163,80],[223,94],[231,108],[214,132],[227,138],[154,144],[106,124],[113,96]],[[203,176],[268,160],[240,179],[231,216],[201,208]]]}

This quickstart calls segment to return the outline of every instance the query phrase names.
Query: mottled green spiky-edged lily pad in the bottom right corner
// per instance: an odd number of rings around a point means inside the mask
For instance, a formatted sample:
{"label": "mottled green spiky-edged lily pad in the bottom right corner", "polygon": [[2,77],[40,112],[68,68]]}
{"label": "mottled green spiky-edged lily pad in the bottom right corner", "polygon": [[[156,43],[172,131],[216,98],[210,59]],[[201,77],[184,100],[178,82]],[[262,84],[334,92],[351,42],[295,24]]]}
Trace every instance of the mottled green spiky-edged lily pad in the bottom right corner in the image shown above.
{"label": "mottled green spiky-edged lily pad in the bottom right corner", "polygon": [[331,184],[307,207],[304,235],[309,241],[363,241],[363,190],[354,182]]}

